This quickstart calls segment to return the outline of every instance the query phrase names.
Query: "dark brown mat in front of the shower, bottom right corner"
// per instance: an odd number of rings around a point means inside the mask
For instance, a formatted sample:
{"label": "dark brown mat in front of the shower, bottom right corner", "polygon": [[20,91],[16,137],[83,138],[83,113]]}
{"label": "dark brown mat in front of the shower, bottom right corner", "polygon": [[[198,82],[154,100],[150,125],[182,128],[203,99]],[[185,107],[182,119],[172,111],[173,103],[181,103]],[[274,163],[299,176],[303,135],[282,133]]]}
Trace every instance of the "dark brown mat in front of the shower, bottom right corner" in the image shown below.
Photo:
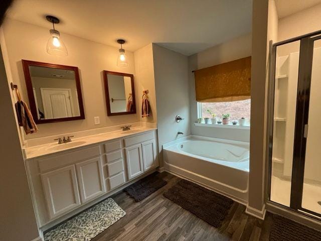
{"label": "dark brown mat in front of the shower, bottom right corner", "polygon": [[270,241],[321,241],[321,232],[279,215],[273,215]]}

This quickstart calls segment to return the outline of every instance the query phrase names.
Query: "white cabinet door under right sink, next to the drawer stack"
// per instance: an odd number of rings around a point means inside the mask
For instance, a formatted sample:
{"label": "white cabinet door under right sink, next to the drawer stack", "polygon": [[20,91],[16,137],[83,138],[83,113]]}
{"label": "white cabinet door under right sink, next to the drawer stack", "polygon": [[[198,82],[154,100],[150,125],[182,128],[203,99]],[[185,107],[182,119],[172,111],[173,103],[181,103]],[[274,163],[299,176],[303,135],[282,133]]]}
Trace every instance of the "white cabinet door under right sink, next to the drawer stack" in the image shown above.
{"label": "white cabinet door under right sink, next to the drawer stack", "polygon": [[128,179],[130,180],[144,172],[142,164],[141,145],[139,144],[131,146],[126,148],[125,150]]}

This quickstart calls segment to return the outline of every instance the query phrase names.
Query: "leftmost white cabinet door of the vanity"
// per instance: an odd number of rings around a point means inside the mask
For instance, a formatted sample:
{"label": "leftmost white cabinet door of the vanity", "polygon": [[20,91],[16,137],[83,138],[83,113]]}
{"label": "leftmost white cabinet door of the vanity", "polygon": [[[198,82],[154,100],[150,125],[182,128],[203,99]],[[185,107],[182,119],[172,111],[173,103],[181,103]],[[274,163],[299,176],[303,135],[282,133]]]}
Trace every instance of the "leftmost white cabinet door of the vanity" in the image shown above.
{"label": "leftmost white cabinet door of the vanity", "polygon": [[50,219],[80,205],[75,166],[41,174]]}

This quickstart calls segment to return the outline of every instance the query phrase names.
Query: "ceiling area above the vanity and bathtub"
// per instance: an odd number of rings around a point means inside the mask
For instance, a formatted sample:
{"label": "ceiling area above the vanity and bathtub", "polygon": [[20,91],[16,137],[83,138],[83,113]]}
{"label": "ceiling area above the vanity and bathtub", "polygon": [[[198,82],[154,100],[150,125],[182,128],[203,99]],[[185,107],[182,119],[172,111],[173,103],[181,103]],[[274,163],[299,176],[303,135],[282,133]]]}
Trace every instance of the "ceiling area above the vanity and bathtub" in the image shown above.
{"label": "ceiling area above the vanity and bathtub", "polygon": [[[158,43],[184,55],[251,32],[252,0],[16,0],[8,17],[135,51]],[[63,38],[63,34],[62,34]]]}

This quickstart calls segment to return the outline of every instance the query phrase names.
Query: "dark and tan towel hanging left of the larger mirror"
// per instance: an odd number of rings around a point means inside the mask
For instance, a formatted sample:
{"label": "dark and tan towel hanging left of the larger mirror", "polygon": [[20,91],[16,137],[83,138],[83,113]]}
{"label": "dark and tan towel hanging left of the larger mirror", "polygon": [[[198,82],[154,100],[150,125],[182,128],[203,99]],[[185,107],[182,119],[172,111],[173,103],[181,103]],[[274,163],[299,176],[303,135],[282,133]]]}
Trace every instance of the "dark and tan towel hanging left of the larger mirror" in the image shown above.
{"label": "dark and tan towel hanging left of the larger mirror", "polygon": [[15,107],[17,111],[19,126],[24,128],[27,135],[36,133],[38,131],[38,127],[26,102],[20,100],[15,104]]}

